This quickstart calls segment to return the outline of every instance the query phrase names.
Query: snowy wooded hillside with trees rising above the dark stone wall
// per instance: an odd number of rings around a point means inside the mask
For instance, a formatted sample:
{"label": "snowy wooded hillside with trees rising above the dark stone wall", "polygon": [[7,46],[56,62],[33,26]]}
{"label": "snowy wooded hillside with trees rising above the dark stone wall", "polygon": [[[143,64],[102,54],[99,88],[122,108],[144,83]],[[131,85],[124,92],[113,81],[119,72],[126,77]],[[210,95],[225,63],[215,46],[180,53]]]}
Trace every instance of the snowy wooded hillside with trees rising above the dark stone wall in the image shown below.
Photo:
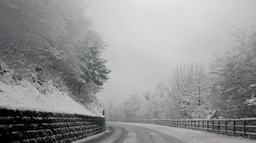
{"label": "snowy wooded hillside with trees rising above the dark stone wall", "polygon": [[106,44],[85,1],[0,1],[0,106],[102,114]]}

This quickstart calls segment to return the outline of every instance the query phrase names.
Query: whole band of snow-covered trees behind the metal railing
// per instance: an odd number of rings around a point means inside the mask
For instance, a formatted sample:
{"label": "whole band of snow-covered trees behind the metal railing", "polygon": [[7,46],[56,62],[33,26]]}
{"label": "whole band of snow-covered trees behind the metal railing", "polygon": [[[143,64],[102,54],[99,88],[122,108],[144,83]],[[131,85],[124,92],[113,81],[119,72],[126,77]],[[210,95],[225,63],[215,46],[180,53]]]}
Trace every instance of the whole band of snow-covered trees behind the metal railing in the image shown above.
{"label": "whole band of snow-covered trees behind the metal railing", "polygon": [[[109,118],[239,119],[256,117],[256,28],[236,29],[235,45],[210,64],[180,63],[153,92],[109,100]],[[185,41],[186,42],[186,41]]]}

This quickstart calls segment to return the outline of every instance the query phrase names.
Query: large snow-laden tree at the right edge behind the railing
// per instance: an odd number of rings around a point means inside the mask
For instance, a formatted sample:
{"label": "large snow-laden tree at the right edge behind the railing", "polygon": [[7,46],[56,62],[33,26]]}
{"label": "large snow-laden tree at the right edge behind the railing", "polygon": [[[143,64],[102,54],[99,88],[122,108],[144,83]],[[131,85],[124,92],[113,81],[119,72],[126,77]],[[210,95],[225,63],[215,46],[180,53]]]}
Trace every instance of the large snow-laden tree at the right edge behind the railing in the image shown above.
{"label": "large snow-laden tree at the right edge behind the railing", "polygon": [[[255,117],[256,88],[256,29],[239,31],[236,46],[225,56],[217,57],[211,64],[211,102],[225,117]],[[244,104],[246,102],[247,104]]]}

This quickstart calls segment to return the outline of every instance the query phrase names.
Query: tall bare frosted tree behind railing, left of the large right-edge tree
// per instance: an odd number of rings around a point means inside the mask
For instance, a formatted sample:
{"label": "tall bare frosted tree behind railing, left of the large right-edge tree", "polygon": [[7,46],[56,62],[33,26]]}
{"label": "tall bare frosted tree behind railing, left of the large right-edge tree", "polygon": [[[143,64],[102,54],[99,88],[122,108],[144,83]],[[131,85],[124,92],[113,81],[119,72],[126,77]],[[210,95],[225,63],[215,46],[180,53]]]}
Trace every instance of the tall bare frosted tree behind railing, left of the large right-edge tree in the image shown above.
{"label": "tall bare frosted tree behind railing, left of the large right-edge tree", "polygon": [[[206,95],[207,79],[203,63],[180,63],[169,79],[169,95],[177,105],[177,110],[183,119],[201,118],[199,108]],[[202,108],[200,108],[202,110]],[[201,111],[202,112],[202,111]]]}

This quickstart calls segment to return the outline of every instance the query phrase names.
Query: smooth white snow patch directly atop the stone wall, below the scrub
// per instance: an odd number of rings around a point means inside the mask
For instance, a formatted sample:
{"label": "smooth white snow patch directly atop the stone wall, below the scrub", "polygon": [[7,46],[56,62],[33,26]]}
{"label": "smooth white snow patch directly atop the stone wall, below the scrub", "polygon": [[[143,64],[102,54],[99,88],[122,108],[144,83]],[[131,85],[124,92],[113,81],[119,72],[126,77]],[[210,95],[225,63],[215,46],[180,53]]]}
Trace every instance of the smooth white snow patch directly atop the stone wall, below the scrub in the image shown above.
{"label": "smooth white snow patch directly atop the stone wall, below the scrub", "polygon": [[[52,87],[51,92],[41,94],[30,82],[21,80],[20,85],[6,85],[0,81],[1,108],[61,112],[92,115],[85,106],[75,102],[65,92]],[[97,114],[97,113],[96,113]],[[97,114],[97,116],[99,116]]]}

